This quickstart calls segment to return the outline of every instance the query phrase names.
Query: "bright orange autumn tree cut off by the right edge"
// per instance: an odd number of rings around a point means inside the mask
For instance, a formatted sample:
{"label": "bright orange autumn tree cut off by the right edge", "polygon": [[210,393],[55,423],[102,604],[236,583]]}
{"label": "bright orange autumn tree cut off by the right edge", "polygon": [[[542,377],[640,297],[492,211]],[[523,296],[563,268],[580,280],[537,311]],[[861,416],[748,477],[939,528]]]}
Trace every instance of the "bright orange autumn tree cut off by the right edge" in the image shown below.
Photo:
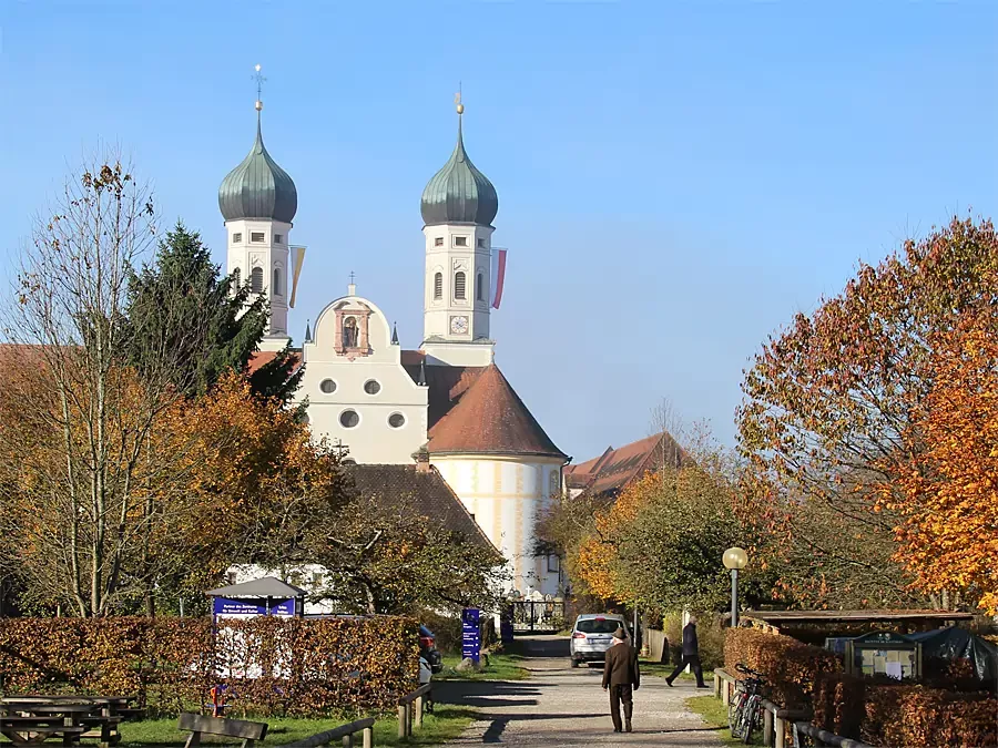
{"label": "bright orange autumn tree cut off by the right edge", "polygon": [[933,383],[888,470],[896,560],[915,585],[998,614],[998,338],[969,317],[934,340]]}

